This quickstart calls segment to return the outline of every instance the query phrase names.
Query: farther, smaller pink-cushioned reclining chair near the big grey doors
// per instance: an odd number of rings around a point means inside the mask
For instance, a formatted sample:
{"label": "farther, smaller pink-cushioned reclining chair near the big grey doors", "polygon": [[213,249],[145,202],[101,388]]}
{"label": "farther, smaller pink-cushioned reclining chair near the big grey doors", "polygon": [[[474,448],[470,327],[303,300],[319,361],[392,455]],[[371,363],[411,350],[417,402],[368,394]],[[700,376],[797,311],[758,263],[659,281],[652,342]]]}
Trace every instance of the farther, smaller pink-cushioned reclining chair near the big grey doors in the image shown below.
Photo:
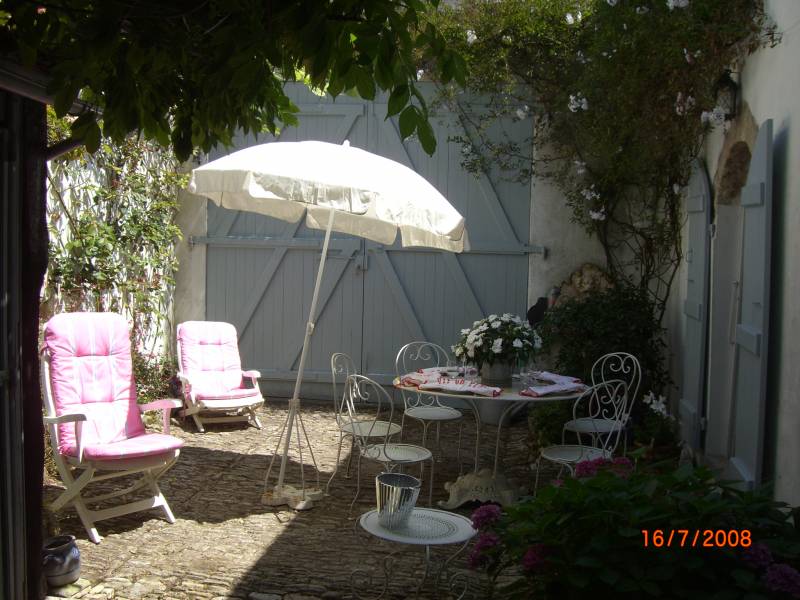
{"label": "farther, smaller pink-cushioned reclining chair near the big grey doors", "polygon": [[[264,404],[258,371],[242,371],[236,328],[230,323],[186,321],[178,325],[178,368],[186,408],[197,429],[203,423],[247,421],[261,429]],[[249,380],[252,387],[245,386]],[[210,416],[211,415],[211,416]]]}

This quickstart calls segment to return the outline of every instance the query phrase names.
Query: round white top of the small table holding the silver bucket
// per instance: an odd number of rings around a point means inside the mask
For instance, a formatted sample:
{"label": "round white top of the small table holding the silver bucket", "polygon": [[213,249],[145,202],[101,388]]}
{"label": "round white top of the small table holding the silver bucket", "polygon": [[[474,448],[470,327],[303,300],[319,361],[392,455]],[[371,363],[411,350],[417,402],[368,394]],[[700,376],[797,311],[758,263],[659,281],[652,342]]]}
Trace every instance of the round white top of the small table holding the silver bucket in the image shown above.
{"label": "round white top of the small table holding the silver bucket", "polygon": [[378,523],[377,510],[364,513],[358,522],[376,537],[416,546],[460,544],[477,533],[467,517],[435,508],[415,508],[408,523],[396,530],[386,529]]}

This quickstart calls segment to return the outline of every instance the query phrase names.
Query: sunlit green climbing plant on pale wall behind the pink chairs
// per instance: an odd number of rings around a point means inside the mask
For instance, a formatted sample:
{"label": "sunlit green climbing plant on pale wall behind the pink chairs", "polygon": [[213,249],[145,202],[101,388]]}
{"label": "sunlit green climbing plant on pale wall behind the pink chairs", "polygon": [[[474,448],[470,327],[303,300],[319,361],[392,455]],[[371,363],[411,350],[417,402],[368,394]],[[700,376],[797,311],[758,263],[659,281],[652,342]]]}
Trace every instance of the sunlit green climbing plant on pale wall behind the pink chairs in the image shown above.
{"label": "sunlit green climbing plant on pale wall behind the pink chairs", "polygon": [[[48,111],[50,143],[69,122]],[[50,310],[117,311],[147,355],[171,334],[178,188],[186,175],[172,154],[135,136],[103,141],[48,164],[49,268],[43,300]]]}

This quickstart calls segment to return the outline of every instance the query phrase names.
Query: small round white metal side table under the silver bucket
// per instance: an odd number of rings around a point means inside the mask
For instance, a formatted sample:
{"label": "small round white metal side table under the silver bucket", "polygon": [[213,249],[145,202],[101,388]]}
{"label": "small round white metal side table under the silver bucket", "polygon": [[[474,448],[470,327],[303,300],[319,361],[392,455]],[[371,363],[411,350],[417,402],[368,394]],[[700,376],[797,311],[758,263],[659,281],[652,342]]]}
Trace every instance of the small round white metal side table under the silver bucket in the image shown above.
{"label": "small round white metal side table under the silver bucket", "polygon": [[[358,524],[363,531],[376,538],[405,546],[425,547],[425,571],[417,584],[417,596],[430,577],[433,578],[434,593],[436,593],[437,598],[439,597],[440,584],[443,581],[449,587],[450,592],[457,598],[463,598],[466,595],[469,588],[469,581],[466,575],[456,573],[450,576],[449,567],[477,533],[472,528],[472,521],[468,518],[435,508],[415,508],[404,527],[390,530],[382,527],[378,522],[378,511],[371,510],[361,515]],[[458,544],[455,552],[441,560],[437,565],[431,555],[431,547],[455,544]],[[382,598],[386,594],[393,572],[394,560],[397,554],[403,550],[403,548],[400,548],[383,559],[383,585],[380,592],[373,598]],[[373,592],[375,591],[375,586],[371,585],[372,577],[370,574],[364,569],[354,570],[350,575],[354,597],[364,597],[358,590],[359,587],[365,587],[363,582],[367,582],[366,587],[369,587]]]}

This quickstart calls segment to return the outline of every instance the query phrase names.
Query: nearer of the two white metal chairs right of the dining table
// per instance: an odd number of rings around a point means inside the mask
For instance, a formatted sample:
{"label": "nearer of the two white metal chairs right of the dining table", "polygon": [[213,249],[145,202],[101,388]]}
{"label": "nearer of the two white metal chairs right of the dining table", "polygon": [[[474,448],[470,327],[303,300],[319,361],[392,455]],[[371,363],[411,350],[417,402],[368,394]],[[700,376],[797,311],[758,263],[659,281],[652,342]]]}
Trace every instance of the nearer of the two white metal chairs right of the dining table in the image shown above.
{"label": "nearer of the two white metal chairs right of the dining table", "polygon": [[591,414],[595,411],[596,405],[602,405],[613,413],[607,413],[610,418],[604,419],[609,424],[606,431],[591,429],[588,433],[593,445],[584,444],[556,444],[542,448],[539,457],[534,463],[536,469],[536,480],[534,482],[534,494],[539,487],[539,469],[541,461],[555,463],[561,467],[559,476],[564,468],[569,471],[570,476],[575,475],[575,465],[585,460],[595,460],[597,458],[610,459],[619,445],[619,438],[622,432],[623,402],[613,402],[610,399],[625,397],[627,384],[622,380],[608,380],[598,383],[588,388],[581,394],[572,407],[573,419],[577,419],[579,414],[587,408]]}

